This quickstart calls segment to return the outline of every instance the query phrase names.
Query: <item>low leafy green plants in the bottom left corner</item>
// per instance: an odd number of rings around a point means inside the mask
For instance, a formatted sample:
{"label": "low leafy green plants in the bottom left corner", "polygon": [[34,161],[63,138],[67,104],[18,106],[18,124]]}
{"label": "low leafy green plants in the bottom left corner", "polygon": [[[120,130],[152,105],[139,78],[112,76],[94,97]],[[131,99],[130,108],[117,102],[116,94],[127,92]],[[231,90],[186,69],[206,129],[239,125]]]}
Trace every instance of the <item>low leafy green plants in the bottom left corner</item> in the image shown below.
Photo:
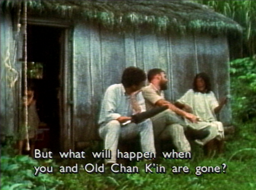
{"label": "low leafy green plants in the bottom left corner", "polygon": [[[46,162],[45,162],[46,163]],[[34,176],[33,166],[40,166],[39,163],[28,156],[8,155],[1,156],[1,189],[2,190],[26,190],[26,189],[49,189],[54,190],[61,181],[50,174],[40,174]]]}

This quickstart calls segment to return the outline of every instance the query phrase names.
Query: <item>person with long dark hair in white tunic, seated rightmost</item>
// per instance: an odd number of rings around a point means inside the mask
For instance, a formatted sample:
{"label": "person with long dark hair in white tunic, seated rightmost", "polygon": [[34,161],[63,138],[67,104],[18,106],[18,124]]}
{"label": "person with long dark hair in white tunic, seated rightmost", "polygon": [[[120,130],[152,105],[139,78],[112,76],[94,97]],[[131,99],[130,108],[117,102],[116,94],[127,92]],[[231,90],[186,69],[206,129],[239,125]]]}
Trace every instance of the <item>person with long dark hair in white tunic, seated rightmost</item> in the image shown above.
{"label": "person with long dark hair in white tunic, seated rightmost", "polygon": [[227,103],[224,98],[217,102],[214,93],[211,91],[210,78],[206,73],[199,73],[194,78],[193,89],[188,90],[183,97],[177,100],[176,105],[187,112],[191,112],[198,117],[198,123],[188,124],[194,129],[207,129],[210,135],[202,140],[196,140],[204,146],[204,153],[207,156],[213,154],[213,150],[218,153],[223,152],[224,128],[223,124],[216,119],[216,113]]}

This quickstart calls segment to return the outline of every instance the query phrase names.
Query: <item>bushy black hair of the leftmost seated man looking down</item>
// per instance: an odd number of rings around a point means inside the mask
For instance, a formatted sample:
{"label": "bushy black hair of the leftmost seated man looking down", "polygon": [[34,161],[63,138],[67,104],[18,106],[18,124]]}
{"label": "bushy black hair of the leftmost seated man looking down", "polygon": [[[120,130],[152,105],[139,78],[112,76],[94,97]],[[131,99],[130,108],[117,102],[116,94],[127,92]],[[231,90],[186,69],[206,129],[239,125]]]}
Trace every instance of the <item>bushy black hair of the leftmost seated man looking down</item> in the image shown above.
{"label": "bushy black hair of the leftmost seated man looking down", "polygon": [[146,81],[146,73],[139,67],[127,67],[122,75],[122,84],[125,88],[132,85],[140,85],[141,82]]}

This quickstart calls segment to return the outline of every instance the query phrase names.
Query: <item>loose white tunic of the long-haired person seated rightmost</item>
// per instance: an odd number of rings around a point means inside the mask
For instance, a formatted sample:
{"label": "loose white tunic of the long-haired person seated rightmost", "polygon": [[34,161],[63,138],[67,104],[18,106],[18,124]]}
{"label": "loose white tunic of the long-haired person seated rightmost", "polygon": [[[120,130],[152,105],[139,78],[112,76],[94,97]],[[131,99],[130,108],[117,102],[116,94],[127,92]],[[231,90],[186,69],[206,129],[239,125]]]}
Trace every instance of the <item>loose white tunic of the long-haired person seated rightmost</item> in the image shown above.
{"label": "loose white tunic of the long-haired person seated rightmost", "polygon": [[210,130],[210,135],[205,139],[196,140],[197,143],[204,145],[214,138],[218,140],[224,139],[223,124],[217,121],[214,113],[214,109],[218,106],[218,101],[212,91],[201,93],[190,89],[177,101],[189,105],[192,108],[192,113],[200,119],[198,123],[191,123],[186,120],[189,126],[198,130],[203,128]]}

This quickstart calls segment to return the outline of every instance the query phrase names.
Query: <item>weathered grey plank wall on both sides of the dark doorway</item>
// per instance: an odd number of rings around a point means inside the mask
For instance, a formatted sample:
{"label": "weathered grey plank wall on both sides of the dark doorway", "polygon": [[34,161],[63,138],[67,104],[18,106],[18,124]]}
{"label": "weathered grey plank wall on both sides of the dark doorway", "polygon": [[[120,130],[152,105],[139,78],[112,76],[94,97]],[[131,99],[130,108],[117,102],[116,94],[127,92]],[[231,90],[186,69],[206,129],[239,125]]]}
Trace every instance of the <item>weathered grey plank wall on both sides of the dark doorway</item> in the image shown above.
{"label": "weathered grey plank wall on both sides of the dark doorway", "polygon": [[[9,14],[1,15],[1,134],[13,135],[19,125],[22,43]],[[175,101],[192,87],[198,72],[210,74],[217,98],[229,93],[229,51],[226,36],[119,34],[88,23],[74,26],[72,60],[73,137],[98,138],[100,101],[106,88],[120,83],[123,70],[162,68],[169,79],[166,99]],[[20,50],[19,50],[20,49]],[[230,105],[220,120],[231,122]]]}

